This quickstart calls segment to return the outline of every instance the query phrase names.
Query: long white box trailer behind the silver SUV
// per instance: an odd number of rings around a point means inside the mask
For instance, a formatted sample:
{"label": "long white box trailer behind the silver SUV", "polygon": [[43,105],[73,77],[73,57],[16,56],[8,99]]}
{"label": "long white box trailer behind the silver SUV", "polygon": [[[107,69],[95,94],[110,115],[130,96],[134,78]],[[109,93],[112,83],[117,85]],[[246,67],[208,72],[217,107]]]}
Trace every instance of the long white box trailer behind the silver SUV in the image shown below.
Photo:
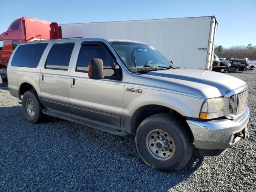
{"label": "long white box trailer behind the silver SUV", "polygon": [[211,70],[215,16],[60,24],[62,38],[120,38],[144,42],[181,68]]}

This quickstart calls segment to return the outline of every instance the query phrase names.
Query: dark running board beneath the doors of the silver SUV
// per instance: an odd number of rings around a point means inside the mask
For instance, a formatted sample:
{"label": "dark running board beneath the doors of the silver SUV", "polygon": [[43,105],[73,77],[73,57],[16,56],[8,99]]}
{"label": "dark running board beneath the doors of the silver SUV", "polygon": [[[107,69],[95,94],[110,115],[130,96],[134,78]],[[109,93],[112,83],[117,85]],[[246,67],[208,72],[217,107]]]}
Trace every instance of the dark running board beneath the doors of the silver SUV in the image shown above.
{"label": "dark running board beneath the doors of the silver SUV", "polygon": [[55,111],[55,110],[50,110],[48,108],[44,109],[43,113],[46,114],[46,115],[49,115],[49,116],[58,117],[58,118],[65,119],[65,120],[68,120],[68,121],[72,121],[72,122],[75,122],[75,123],[79,123],[79,124],[82,124],[82,125],[85,125],[85,126],[88,126],[88,127],[96,128],[98,130],[102,130],[102,131],[105,131],[105,132],[108,132],[108,133],[111,133],[111,134],[115,134],[115,135],[124,136],[124,135],[128,134],[128,132],[126,132],[125,130],[115,129],[115,128],[112,128],[112,127],[109,127],[109,126],[98,124],[96,122],[91,122],[91,121],[88,121],[88,120],[84,120],[84,119],[79,118],[79,117],[74,116],[74,115],[58,112],[58,111]]}

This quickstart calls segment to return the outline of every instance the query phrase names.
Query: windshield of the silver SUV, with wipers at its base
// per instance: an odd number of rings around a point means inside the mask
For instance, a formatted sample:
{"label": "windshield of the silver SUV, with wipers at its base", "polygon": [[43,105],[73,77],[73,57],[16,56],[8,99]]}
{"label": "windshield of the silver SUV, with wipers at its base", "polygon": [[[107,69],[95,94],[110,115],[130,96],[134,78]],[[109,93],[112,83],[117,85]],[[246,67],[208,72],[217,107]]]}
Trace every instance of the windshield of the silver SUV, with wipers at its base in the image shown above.
{"label": "windshield of the silver SUV, with wipers at its base", "polygon": [[[150,71],[177,68],[152,46],[142,43],[111,42],[131,71]],[[134,51],[133,51],[134,48]]]}

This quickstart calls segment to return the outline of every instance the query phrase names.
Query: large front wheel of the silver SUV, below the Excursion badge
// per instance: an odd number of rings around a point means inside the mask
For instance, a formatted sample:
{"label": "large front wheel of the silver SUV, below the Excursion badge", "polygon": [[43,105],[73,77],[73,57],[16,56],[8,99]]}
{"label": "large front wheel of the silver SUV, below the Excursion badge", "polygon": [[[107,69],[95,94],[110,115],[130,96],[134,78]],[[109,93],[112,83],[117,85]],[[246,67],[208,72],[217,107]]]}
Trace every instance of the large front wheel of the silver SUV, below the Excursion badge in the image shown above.
{"label": "large front wheel of the silver SUV, below the Excursion badge", "polygon": [[194,148],[186,125],[169,114],[154,114],[143,120],[137,129],[135,142],[142,160],[164,172],[183,168]]}

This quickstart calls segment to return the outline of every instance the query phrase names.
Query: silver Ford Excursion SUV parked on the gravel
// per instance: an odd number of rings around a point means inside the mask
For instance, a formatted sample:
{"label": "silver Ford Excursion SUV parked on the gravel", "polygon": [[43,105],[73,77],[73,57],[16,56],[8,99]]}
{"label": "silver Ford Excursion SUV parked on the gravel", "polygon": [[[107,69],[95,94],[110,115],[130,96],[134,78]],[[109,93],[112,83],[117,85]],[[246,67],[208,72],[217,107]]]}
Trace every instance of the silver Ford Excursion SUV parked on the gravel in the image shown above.
{"label": "silver Ford Excursion SUV parked on the gravel", "polygon": [[142,160],[179,170],[193,148],[221,154],[248,136],[244,81],[180,69],[152,46],[72,38],[19,44],[7,68],[10,93],[31,123],[46,115],[116,135],[136,134]]}

